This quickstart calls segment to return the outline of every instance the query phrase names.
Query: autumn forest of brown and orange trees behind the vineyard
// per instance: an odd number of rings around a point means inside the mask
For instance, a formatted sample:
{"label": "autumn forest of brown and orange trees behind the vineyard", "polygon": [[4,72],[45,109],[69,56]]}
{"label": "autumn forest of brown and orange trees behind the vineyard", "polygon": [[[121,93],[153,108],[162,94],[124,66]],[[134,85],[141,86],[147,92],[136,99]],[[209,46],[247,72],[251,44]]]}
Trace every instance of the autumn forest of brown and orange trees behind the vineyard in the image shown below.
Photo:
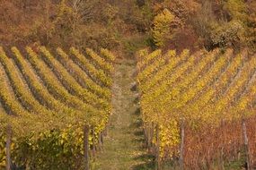
{"label": "autumn forest of brown and orange trees behind the vineyard", "polygon": [[256,3],[243,0],[1,0],[3,46],[255,50]]}

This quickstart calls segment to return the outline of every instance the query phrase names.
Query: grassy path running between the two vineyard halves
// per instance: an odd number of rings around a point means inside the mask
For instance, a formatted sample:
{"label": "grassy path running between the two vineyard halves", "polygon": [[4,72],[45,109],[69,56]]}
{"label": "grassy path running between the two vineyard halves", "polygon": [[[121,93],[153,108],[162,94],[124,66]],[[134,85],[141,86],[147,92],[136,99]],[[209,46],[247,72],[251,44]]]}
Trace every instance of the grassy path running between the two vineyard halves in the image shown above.
{"label": "grassy path running between the two vineyard halves", "polygon": [[135,63],[119,61],[116,65],[113,86],[113,115],[110,116],[108,136],[103,150],[98,153],[93,169],[143,170],[152,169],[152,157],[146,154],[137,92],[131,90],[135,81]]}

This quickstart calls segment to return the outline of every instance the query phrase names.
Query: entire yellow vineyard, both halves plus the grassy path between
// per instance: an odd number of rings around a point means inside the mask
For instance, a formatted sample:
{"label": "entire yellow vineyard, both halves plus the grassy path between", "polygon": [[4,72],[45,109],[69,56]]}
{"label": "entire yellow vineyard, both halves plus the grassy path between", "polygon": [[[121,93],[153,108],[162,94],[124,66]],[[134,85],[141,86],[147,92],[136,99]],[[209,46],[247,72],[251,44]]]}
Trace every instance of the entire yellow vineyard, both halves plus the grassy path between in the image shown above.
{"label": "entire yellow vineyard, both halves plus the grassy path between", "polygon": [[[141,140],[129,123],[142,119],[157,170],[254,168],[255,55],[145,49],[136,66],[124,63],[107,49],[0,47],[0,167],[88,170],[99,161],[142,168],[137,162],[145,160],[134,160],[145,154],[141,143],[126,146]],[[131,115],[133,75],[141,118]]]}

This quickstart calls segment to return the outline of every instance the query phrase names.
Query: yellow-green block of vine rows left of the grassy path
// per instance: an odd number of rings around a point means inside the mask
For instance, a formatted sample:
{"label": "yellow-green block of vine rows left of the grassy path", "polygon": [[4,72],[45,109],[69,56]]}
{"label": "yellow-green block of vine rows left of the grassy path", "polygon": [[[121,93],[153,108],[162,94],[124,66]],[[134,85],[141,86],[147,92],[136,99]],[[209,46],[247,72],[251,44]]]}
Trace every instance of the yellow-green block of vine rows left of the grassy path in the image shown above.
{"label": "yellow-green block of vine rows left of the grassy path", "polygon": [[89,168],[112,110],[115,56],[83,51],[0,47],[0,168]]}

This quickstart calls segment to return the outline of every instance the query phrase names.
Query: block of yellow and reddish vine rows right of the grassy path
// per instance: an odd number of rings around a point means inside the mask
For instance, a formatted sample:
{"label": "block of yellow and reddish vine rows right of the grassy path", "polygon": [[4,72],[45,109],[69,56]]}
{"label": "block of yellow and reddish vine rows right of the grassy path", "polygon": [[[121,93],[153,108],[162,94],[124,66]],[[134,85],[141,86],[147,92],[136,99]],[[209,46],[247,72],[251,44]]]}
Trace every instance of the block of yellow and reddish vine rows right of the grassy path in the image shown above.
{"label": "block of yellow and reddish vine rows right of the grassy path", "polygon": [[158,169],[168,161],[180,169],[253,169],[255,55],[141,50],[137,84],[146,143]]}

